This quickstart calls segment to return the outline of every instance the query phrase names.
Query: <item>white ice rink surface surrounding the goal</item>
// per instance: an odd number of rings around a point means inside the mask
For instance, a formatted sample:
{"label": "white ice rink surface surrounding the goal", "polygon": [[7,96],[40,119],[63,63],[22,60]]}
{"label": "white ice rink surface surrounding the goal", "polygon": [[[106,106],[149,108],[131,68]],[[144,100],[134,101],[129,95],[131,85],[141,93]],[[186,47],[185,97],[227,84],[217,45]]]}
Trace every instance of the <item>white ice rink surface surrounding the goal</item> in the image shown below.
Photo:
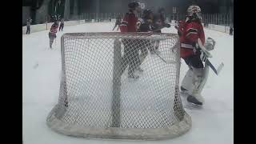
{"label": "white ice rink surface surrounding the goal", "polygon": [[[186,104],[185,110],[192,118],[192,128],[181,137],[162,141],[98,140],[73,138],[57,134],[46,126],[46,117],[58,102],[61,77],[60,38],[64,33],[109,32],[114,23],[86,23],[65,26],[58,32],[53,50],[49,48],[48,30],[22,35],[22,132],[24,144],[97,144],[97,143],[234,143],[234,37],[205,29],[206,38],[214,38],[215,49],[210,51],[210,61],[224,67],[218,76],[210,70],[202,95],[205,105],[195,109]],[[174,27],[163,29],[165,33],[176,33]],[[180,82],[187,66],[182,60]]]}

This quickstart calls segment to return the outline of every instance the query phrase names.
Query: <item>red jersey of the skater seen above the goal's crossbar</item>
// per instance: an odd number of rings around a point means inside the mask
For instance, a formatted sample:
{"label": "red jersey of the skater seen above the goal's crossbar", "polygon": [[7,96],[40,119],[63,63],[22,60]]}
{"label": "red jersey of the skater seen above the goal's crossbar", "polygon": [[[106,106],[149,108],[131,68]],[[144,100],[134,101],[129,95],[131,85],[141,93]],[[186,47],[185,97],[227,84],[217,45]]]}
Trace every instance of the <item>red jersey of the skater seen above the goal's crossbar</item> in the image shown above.
{"label": "red jersey of the skater seen above the goal's crossbar", "polygon": [[136,32],[137,21],[138,18],[132,11],[126,13],[125,17],[122,19],[121,25],[119,26],[121,32]]}

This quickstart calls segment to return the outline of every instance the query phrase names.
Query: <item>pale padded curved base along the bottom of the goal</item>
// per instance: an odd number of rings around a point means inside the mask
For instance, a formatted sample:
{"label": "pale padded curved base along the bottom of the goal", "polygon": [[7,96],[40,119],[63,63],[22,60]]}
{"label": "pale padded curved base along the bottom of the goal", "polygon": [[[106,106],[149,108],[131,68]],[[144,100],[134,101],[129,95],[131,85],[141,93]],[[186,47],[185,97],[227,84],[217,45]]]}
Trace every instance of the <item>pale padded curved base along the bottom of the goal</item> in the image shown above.
{"label": "pale padded curved base along the bottom of the goal", "polygon": [[67,136],[78,138],[106,138],[130,140],[163,140],[176,138],[185,134],[191,127],[191,118],[186,112],[181,122],[166,128],[120,128],[120,127],[81,127],[62,122],[55,114],[51,114],[47,121],[50,129]]}

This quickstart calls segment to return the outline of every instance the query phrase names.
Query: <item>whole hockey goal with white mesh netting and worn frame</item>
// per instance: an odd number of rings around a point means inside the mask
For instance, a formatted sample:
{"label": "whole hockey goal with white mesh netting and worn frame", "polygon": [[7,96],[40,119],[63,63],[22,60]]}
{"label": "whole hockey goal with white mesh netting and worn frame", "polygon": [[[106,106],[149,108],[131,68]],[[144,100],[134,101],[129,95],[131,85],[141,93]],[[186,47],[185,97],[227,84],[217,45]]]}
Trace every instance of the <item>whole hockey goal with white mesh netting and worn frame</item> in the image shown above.
{"label": "whole hockey goal with white mesh netting and worn frame", "polygon": [[[161,53],[150,53],[156,47]],[[177,34],[63,34],[61,51],[58,104],[46,120],[52,130],[83,138],[157,140],[190,129],[178,90]],[[129,78],[130,70],[140,77]]]}

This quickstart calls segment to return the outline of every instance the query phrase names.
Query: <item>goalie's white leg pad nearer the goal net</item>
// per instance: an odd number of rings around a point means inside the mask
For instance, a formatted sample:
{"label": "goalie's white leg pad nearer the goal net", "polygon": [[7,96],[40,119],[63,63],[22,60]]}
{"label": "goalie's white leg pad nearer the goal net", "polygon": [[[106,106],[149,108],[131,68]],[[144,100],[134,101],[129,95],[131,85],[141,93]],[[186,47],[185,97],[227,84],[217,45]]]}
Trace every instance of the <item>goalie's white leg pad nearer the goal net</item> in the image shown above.
{"label": "goalie's white leg pad nearer the goal net", "polygon": [[182,79],[181,90],[182,90],[183,93],[192,94],[192,90],[193,90],[192,79],[193,79],[193,76],[194,76],[194,73],[193,73],[192,69],[190,68],[189,70],[187,70],[185,77]]}

